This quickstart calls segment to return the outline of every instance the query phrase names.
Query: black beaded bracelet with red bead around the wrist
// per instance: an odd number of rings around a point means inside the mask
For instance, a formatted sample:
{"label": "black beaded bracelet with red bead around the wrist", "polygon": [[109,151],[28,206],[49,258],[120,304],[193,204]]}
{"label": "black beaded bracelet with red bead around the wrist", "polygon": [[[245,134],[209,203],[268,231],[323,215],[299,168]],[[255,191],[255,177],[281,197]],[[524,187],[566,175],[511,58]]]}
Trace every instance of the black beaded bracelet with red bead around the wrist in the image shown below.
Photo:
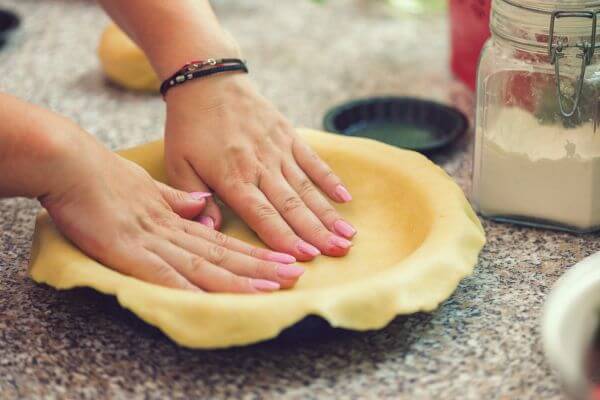
{"label": "black beaded bracelet with red bead around the wrist", "polygon": [[168,79],[165,79],[162,85],[160,85],[160,93],[165,97],[169,89],[174,86],[205,76],[230,71],[248,73],[248,66],[244,60],[240,60],[239,58],[222,58],[218,60],[209,58],[204,61],[192,61],[184,65]]}

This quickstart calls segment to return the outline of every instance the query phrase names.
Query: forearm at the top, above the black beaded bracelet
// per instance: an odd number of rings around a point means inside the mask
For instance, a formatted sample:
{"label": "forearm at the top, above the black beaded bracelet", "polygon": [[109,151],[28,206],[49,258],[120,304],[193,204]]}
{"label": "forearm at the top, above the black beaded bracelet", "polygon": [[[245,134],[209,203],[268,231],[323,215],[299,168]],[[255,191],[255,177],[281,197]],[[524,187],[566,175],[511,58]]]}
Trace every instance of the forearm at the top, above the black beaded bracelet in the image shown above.
{"label": "forearm at the top, above the black beaded bracelet", "polygon": [[207,0],[99,0],[161,79],[192,59],[237,56]]}

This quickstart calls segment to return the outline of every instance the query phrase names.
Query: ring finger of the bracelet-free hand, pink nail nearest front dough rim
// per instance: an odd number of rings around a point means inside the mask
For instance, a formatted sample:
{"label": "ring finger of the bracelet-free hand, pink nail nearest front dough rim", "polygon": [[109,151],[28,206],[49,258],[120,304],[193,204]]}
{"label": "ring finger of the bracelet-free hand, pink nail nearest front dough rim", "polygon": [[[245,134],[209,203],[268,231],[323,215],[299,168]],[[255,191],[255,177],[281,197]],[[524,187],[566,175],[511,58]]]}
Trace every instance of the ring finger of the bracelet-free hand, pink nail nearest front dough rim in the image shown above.
{"label": "ring finger of the bracelet-free hand, pink nail nearest front dough rim", "polygon": [[205,257],[192,254],[167,240],[156,240],[149,250],[160,256],[189,282],[209,292],[259,293],[279,290],[276,282],[237,276]]}

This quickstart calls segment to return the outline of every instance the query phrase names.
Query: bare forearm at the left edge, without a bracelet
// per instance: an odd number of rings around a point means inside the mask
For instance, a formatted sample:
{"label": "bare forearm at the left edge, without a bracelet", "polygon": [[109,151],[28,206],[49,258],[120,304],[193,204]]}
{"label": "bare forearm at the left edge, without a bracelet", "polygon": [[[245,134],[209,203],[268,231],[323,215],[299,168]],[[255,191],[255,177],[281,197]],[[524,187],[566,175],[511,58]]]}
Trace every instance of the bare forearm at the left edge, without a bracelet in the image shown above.
{"label": "bare forearm at the left edge, without a bracelet", "polygon": [[[42,197],[61,185],[80,129],[67,119],[0,94],[0,197]],[[82,149],[77,149],[81,151]]]}

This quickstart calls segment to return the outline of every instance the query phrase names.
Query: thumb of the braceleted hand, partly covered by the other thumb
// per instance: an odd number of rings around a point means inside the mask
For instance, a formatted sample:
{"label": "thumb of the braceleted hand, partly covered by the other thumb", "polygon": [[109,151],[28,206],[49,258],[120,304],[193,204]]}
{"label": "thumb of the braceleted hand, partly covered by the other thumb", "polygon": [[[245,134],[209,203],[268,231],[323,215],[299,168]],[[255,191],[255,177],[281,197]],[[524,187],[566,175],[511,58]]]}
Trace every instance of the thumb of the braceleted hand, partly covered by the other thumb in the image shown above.
{"label": "thumb of the braceleted hand, partly covered by the other thumb", "polygon": [[[172,165],[174,168],[169,168],[167,172],[169,182],[173,186],[188,192],[210,192],[208,186],[187,160],[181,159],[179,163],[172,163]],[[196,215],[196,220],[209,228],[221,229],[223,216],[214,197],[206,199],[206,207],[200,215]]]}

